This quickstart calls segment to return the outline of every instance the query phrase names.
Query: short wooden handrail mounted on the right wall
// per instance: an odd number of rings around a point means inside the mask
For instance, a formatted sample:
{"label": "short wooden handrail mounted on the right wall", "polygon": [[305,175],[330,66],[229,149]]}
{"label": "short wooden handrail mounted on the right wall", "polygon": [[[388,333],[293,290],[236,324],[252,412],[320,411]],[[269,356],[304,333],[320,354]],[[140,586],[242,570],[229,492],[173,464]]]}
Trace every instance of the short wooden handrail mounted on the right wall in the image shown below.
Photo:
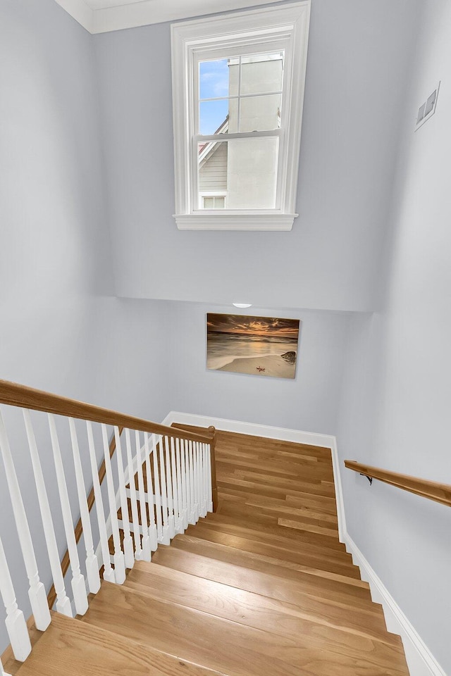
{"label": "short wooden handrail mounted on the right wall", "polygon": [[435,481],[411,477],[407,474],[398,474],[397,472],[390,472],[389,470],[383,470],[379,467],[363,465],[354,460],[345,460],[345,466],[349,470],[359,472],[359,474],[363,474],[371,479],[377,479],[385,484],[390,484],[390,486],[401,488],[409,493],[421,495],[424,498],[451,507],[450,484],[440,484]]}

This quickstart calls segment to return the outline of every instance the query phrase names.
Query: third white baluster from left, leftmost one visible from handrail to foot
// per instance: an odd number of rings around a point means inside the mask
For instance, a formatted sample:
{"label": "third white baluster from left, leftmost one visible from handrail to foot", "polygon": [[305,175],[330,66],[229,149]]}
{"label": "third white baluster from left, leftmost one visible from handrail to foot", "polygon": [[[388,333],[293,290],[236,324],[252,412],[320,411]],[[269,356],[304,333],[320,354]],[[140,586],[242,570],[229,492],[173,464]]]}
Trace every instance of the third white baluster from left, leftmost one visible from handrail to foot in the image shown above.
{"label": "third white baluster from left, leftmost one visible from handrail to foot", "polygon": [[47,552],[49,553],[51,575],[54,579],[54,587],[56,592],[56,610],[58,613],[62,613],[63,615],[67,615],[68,618],[72,618],[72,606],[70,606],[70,599],[66,595],[66,589],[64,587],[58,545],[56,544],[54,522],[51,516],[49,497],[47,496],[44,474],[42,472],[42,465],[39,459],[39,452],[37,450],[35,431],[33,430],[30,411],[28,411],[26,408],[23,408],[22,412],[23,420],[25,422],[25,431],[27,432],[28,446],[30,448],[33,474],[35,475],[37,499],[39,501],[39,510],[41,512],[42,525],[44,527],[44,537],[47,544]]}

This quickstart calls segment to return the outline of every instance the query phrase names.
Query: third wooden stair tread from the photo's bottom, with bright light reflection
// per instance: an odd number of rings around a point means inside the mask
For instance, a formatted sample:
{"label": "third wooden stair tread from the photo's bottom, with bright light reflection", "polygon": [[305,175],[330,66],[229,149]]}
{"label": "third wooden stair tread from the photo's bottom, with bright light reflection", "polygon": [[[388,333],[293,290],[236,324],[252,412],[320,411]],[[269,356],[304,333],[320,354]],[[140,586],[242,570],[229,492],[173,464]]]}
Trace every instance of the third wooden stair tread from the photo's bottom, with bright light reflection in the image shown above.
{"label": "third wooden stair tread from the photo's bottom, with bright light reflection", "polygon": [[373,615],[371,628],[364,628],[362,625],[345,626],[340,618],[340,615],[346,615],[345,608],[335,608],[337,612],[330,618],[325,613],[314,614],[305,607],[273,599],[259,592],[249,592],[236,584],[208,580],[166,568],[164,565],[137,562],[125,584],[156,599],[197,608],[217,617],[295,639],[299,633],[307,632],[309,627],[304,626],[306,622],[314,622],[328,627],[332,634],[337,630],[350,631],[359,636],[400,646],[400,637],[387,632],[381,614]]}

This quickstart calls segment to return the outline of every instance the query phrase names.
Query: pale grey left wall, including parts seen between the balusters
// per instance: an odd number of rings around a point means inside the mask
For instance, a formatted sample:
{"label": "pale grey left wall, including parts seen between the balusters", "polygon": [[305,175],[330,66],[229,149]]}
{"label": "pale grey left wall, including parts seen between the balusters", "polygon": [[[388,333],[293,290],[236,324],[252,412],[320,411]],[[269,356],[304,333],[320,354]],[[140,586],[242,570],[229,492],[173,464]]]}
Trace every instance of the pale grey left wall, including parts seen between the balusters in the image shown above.
{"label": "pale grey left wall, including parts seen between the balusters", "polygon": [[[156,371],[159,303],[141,320],[136,303],[106,298],[113,265],[92,62],[92,38],[54,0],[0,3],[0,377],[158,420],[168,411]],[[6,420],[49,588],[20,413]],[[44,421],[37,437],[57,511]],[[0,461],[0,534],[28,616],[7,490]],[[74,487],[70,494],[75,506]],[[56,530],[66,549],[61,519]],[[1,605],[0,653],[3,618]]]}

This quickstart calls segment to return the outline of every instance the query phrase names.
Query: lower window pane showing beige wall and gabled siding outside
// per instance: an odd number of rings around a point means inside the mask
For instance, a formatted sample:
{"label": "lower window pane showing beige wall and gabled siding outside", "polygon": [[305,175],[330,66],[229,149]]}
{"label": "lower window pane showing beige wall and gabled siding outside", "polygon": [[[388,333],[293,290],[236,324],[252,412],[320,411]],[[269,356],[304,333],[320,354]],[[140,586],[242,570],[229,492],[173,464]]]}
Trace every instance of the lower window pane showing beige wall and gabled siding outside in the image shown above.
{"label": "lower window pane showing beige wall and gabled siding outside", "polygon": [[198,155],[199,193],[226,192],[228,209],[276,208],[277,137],[199,144]]}

